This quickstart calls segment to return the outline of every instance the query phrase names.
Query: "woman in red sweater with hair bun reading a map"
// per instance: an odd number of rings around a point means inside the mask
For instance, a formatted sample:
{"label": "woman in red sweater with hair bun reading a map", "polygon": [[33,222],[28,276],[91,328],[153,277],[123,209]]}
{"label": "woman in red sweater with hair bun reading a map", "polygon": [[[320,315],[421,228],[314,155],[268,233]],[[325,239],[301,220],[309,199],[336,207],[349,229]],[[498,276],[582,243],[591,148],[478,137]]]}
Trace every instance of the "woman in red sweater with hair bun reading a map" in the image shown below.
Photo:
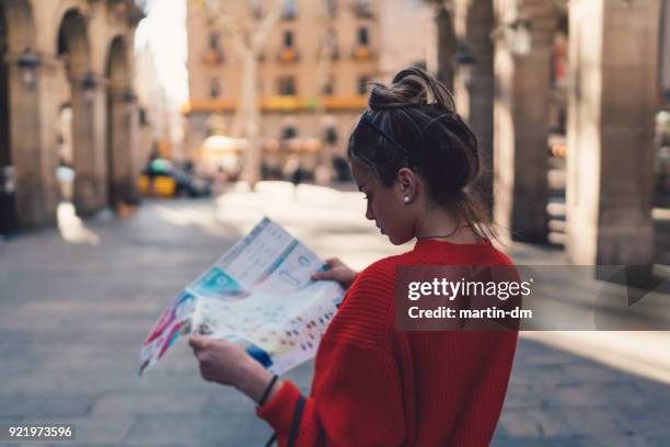
{"label": "woman in red sweater with hair bun reading a map", "polygon": [[408,253],[359,274],[342,263],[319,279],[351,283],[316,354],[312,393],[274,378],[241,348],[194,335],[203,377],[256,403],[279,445],[483,446],[509,380],[517,333],[401,331],[398,265],[511,265],[490,243],[486,214],[469,193],[477,142],[448,90],[418,68],[376,84],[354,130],[351,172],[366,217]]}

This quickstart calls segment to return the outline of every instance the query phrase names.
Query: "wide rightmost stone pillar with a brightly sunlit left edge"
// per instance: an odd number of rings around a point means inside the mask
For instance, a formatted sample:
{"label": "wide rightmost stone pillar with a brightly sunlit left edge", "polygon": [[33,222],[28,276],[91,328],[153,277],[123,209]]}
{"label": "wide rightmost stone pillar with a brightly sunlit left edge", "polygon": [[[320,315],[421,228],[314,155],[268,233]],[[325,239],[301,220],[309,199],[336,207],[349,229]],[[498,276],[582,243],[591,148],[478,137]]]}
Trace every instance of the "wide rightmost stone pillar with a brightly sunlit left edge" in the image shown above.
{"label": "wide rightmost stone pillar with a brightly sunlit left edge", "polygon": [[570,3],[567,253],[649,265],[660,0]]}

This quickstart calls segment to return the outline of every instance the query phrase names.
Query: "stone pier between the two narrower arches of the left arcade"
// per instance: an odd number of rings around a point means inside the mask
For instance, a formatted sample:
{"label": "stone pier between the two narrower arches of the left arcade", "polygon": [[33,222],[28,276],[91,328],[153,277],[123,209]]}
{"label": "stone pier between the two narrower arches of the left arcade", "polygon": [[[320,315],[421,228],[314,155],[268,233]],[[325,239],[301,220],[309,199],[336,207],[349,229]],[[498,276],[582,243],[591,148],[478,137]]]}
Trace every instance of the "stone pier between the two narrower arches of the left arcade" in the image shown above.
{"label": "stone pier between the two narrower arches of the left arcade", "polygon": [[[88,84],[86,84],[88,83]],[[72,147],[74,152],[74,206],[82,216],[107,205],[105,158],[105,105],[103,81],[72,81]]]}

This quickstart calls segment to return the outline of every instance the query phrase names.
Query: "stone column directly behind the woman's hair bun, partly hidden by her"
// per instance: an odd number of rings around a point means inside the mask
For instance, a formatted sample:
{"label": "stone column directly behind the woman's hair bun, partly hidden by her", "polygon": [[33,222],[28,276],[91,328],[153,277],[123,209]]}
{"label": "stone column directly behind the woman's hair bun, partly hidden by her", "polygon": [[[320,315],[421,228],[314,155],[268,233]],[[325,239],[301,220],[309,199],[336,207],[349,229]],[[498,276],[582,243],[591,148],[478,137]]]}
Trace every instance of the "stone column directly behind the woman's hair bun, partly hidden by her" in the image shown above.
{"label": "stone column directly behind the woman's hair bun, partly hidden by her", "polygon": [[494,30],[493,0],[458,0],[454,4],[455,31],[462,61],[457,68],[454,98],[457,110],[472,126],[480,141],[482,173],[477,191],[488,209],[493,208],[494,128]]}

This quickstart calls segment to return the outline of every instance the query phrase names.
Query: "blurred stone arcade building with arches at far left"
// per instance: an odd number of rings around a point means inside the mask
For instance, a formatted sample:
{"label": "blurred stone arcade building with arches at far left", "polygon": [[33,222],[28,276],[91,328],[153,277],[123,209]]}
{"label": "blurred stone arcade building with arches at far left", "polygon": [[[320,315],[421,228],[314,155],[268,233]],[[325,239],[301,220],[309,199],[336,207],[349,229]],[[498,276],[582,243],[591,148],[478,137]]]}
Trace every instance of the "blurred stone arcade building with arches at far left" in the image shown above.
{"label": "blurred stone arcade building with arches at far left", "polygon": [[19,227],[55,221],[59,164],[82,215],[135,198],[142,16],[131,0],[0,1],[0,165]]}

